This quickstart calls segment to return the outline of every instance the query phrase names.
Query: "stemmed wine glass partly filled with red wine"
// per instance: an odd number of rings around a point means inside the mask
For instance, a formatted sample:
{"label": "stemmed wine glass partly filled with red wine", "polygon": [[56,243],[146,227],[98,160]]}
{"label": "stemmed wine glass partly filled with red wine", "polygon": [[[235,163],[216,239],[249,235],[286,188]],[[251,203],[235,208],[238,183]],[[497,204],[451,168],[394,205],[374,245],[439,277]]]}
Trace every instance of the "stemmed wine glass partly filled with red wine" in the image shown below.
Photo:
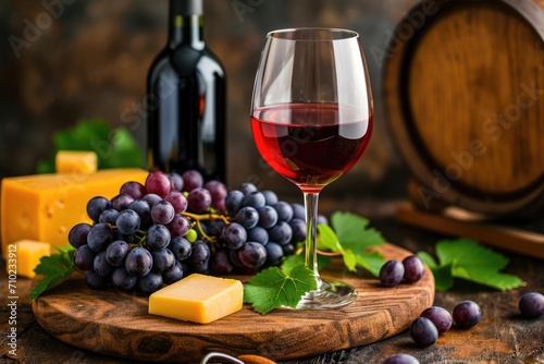
{"label": "stemmed wine glass partly filled with red wine", "polygon": [[304,193],[305,264],[318,289],[297,308],[337,308],[357,298],[324,281],[316,247],[321,190],[354,167],[372,134],[373,104],[359,35],[335,28],[292,28],[267,35],[254,86],[251,131],[262,158]]}

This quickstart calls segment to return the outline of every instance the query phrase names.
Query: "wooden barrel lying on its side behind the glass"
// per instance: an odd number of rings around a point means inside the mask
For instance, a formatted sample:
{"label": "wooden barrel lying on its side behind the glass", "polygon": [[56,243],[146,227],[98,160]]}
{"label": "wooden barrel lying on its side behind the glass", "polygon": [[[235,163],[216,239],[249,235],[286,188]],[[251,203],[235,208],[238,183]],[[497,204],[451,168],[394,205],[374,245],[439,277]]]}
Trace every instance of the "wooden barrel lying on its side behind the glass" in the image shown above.
{"label": "wooden barrel lying on its side behind the glass", "polygon": [[385,54],[385,114],[418,205],[544,211],[544,1],[423,1]]}

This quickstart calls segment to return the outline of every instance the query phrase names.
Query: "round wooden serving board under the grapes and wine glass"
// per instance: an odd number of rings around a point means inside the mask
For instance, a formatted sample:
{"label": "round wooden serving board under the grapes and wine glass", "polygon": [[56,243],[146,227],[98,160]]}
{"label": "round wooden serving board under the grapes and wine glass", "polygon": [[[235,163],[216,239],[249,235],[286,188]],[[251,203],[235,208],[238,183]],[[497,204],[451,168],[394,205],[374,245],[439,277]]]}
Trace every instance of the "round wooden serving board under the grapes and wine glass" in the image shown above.
{"label": "round wooden serving board under the grapes and wine glass", "polygon": [[[385,258],[411,253],[386,244]],[[341,310],[275,310],[260,315],[242,311],[200,325],[148,314],[148,299],[118,291],[92,291],[82,279],[67,281],[33,302],[38,323],[55,338],[107,355],[143,361],[199,362],[210,351],[257,354],[275,361],[372,343],[406,330],[434,301],[429,269],[416,284],[383,288],[373,278],[342,270],[334,278],[353,284],[359,295]],[[326,278],[326,275],[323,275]],[[237,277],[245,280],[248,277]]]}

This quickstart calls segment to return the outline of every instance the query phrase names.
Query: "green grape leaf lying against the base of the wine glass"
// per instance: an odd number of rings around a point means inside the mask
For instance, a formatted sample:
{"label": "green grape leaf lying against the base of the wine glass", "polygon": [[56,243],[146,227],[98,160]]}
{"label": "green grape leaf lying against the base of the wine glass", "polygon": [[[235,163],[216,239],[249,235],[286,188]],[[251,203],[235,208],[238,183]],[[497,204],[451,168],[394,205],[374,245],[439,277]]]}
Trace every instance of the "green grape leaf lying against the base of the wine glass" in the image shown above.
{"label": "green grape leaf lying against the base of the wine glass", "polygon": [[274,308],[295,308],[306,293],[317,288],[313,272],[304,265],[294,267],[289,272],[270,267],[244,284],[244,302],[264,315]]}

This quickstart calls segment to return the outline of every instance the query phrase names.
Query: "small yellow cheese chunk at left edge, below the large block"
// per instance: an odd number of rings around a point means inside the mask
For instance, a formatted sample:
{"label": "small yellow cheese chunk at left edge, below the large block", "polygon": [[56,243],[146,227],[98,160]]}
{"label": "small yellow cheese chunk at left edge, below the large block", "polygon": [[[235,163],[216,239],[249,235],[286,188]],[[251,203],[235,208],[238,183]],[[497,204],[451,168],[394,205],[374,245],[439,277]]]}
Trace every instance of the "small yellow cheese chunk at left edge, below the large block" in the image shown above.
{"label": "small yellow cheese chunk at left edge, below the large block", "polygon": [[8,275],[15,272],[13,268],[16,266],[17,276],[34,278],[36,276],[34,268],[39,264],[39,259],[50,254],[51,244],[49,243],[21,240],[10,244],[8,246],[8,255],[5,256]]}

